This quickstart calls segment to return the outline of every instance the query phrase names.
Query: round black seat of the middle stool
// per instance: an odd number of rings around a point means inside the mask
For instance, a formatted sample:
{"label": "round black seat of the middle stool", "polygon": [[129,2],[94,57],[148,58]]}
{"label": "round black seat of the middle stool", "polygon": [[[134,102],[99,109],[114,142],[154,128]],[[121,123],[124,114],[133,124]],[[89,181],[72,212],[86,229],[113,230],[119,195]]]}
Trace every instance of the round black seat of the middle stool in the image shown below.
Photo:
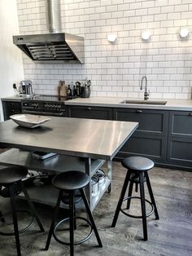
{"label": "round black seat of the middle stool", "polygon": [[89,183],[89,176],[78,170],[69,170],[58,174],[52,180],[55,188],[61,190],[76,190],[84,188]]}

